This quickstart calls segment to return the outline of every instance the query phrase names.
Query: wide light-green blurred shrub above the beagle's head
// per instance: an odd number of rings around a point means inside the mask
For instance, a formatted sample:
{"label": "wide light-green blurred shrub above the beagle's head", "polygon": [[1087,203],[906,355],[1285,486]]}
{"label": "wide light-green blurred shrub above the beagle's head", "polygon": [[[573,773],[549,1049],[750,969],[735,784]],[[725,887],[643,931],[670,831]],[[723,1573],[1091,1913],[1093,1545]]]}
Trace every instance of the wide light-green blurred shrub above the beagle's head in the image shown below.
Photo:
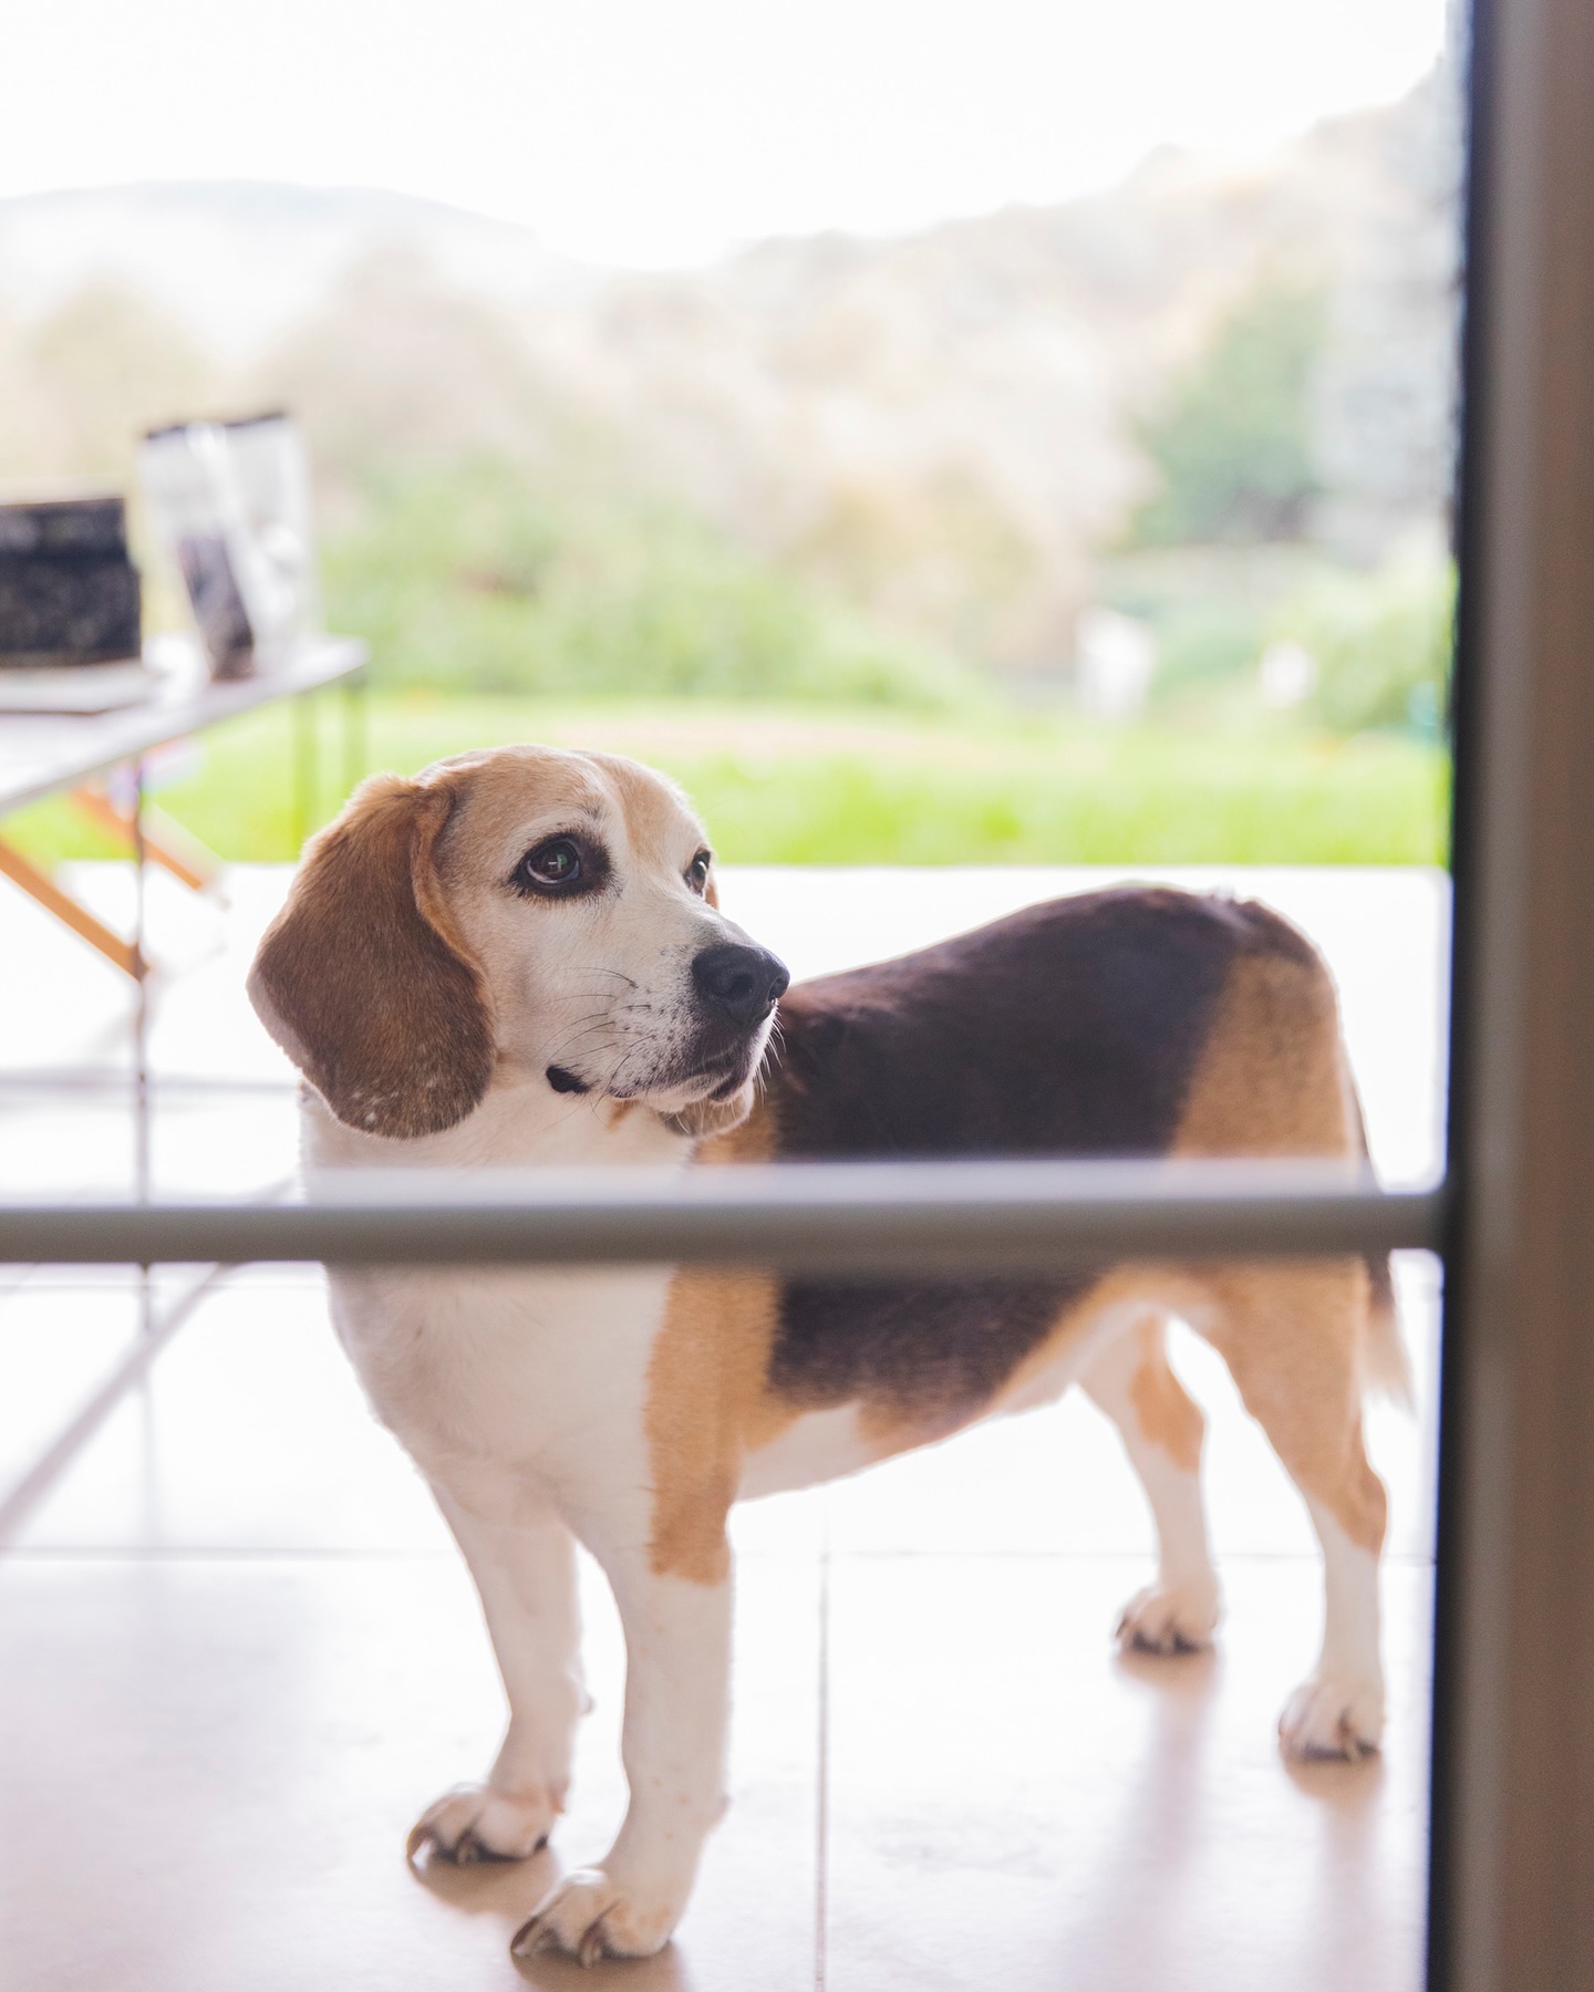
{"label": "wide light-green blurred shrub above the beagle's head", "polygon": [[387,685],[927,707],[976,685],[681,508],[554,502],[490,458],[367,484],[325,590]]}

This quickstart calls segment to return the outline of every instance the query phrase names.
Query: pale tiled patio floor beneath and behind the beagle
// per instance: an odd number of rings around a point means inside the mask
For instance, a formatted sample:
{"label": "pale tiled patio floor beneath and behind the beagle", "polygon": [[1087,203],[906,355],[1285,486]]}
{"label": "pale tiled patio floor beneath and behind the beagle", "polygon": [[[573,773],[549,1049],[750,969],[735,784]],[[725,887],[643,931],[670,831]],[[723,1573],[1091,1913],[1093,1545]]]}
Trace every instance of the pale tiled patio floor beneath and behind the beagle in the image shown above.
{"label": "pale tiled patio floor beneath and behind the beagle", "polygon": [[[1084,882],[765,872],[731,878],[727,898],[815,972]],[[1421,1175],[1439,880],[1229,882],[1329,950],[1375,1155]],[[80,884],[114,912],[126,880]],[[281,884],[235,874],[223,916],[155,880],[161,1189],[265,1185],[293,1165],[287,1074],[239,994]],[[128,992],[10,896],[0,948],[28,964],[0,990],[0,1189],[130,1187]],[[155,1311],[187,1279],[163,1275]],[[743,1510],[731,1815],[677,1942],[578,1980],[550,1960],[518,1976],[506,1944],[554,1859],[602,1853],[624,1805],[624,1661],[602,1584],[588,1572],[598,1709],[554,1853],[412,1876],[410,1819],[496,1741],[480,1618],[343,1369],[319,1275],[233,1275],[0,1560],[0,1984],[1407,1992],[1421,1982],[1435,1271],[1411,1259],[1401,1285],[1421,1416],[1371,1420],[1393,1498],[1381,1759],[1291,1771],[1277,1757],[1273,1721],[1315,1653],[1317,1562],[1221,1367],[1180,1335],[1176,1361],[1211,1412],[1219,1649],[1114,1659],[1150,1526],[1116,1436],[1078,1396]],[[118,1273],[0,1269],[0,1500],[139,1333],[141,1305]]]}

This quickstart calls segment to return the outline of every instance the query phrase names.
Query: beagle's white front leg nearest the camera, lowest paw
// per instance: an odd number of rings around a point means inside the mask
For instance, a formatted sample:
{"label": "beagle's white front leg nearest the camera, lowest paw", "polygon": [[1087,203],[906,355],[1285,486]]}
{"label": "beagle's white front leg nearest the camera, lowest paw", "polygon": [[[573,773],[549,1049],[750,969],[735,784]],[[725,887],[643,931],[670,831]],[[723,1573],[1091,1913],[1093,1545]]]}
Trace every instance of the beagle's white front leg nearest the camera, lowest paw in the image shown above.
{"label": "beagle's white front leg nearest the camera, lowest paw", "polygon": [[660,1576],[646,1552],[606,1554],[626,1629],[622,1753],[632,1803],[596,1868],[566,1874],[514,1938],[516,1956],[652,1956],[685,1908],[703,1841],[725,1811],[731,1580]]}

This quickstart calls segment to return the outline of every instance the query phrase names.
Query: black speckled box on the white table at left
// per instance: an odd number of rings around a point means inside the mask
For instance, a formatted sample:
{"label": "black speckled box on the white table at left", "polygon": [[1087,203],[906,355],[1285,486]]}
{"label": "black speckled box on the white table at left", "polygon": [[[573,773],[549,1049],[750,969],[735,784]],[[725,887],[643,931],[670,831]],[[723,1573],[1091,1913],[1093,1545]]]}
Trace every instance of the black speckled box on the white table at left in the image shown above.
{"label": "black speckled box on the white table at left", "polygon": [[137,657],[122,498],[0,504],[0,669]]}

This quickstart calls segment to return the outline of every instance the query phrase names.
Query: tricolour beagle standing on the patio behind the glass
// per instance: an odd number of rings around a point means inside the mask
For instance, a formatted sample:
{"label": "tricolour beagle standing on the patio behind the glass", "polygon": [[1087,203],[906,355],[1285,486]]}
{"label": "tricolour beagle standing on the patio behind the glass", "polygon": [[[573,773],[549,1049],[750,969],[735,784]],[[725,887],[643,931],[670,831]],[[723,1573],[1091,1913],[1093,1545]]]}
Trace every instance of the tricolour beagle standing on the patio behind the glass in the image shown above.
{"label": "tricolour beagle standing on the patio behind the glass", "polygon": [[[1365,1161],[1329,974],[1259,904],[1164,888],[1032,906],[787,988],[719,910],[681,793],[600,753],[504,747],[367,781],[307,849],[249,978],[341,1167],[703,1167],[783,1157],[1327,1155]],[[779,1016],[779,1032],[775,1022]],[[811,1486],[1080,1382],[1156,1516],[1118,1637],[1205,1645],[1192,1323],[1307,1500],[1325,1558],[1295,1757],[1379,1743],[1385,1492],[1371,1380],[1403,1355],[1387,1259],[849,1285],[761,1273],[335,1269],[337,1333],[480,1590],[508,1733],[410,1857],[548,1839],[586,1705],[576,1544],[620,1608],[630,1809],[518,1954],[646,1956],[725,1805],[731,1502]]]}

